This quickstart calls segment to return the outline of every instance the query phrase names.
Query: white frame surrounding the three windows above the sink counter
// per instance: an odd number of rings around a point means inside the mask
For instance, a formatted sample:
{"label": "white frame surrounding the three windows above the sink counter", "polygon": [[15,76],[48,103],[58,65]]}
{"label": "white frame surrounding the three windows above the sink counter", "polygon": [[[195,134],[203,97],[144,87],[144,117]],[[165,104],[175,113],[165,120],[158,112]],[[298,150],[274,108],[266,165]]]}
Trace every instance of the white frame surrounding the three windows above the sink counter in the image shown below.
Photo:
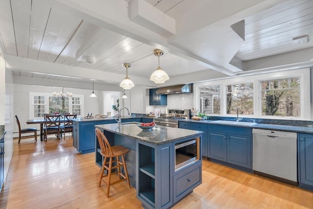
{"label": "white frame surrounding the three windows above the sink counter", "polygon": [[[261,91],[260,81],[271,79],[281,79],[287,77],[300,77],[300,102],[301,102],[301,114],[299,117],[290,116],[262,116],[262,105],[261,105]],[[268,119],[298,119],[298,120],[311,120],[311,86],[310,86],[310,68],[296,69],[296,70],[276,70],[267,73],[258,73],[255,75],[242,75],[236,77],[228,77],[225,79],[217,79],[212,81],[206,81],[194,84],[194,102],[193,107],[200,109],[200,88],[206,86],[220,85],[221,95],[221,114],[210,114],[211,116],[233,116],[226,114],[226,84],[232,83],[249,83],[253,82],[254,96],[253,96],[253,113],[254,115],[248,115],[245,117],[255,118],[268,118]],[[304,114],[305,113],[305,114]]]}

